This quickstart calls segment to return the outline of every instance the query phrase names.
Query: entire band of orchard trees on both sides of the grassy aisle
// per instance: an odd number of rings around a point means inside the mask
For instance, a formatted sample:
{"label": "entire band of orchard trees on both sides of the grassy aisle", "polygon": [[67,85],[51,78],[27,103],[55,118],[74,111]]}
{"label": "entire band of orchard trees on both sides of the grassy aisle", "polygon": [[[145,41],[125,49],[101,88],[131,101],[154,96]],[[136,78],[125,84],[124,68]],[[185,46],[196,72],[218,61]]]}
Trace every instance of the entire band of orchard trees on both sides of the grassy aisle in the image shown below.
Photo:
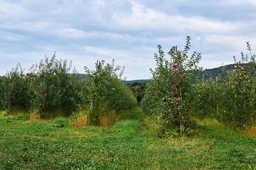
{"label": "entire band of orchard trees on both sides of the grassy aisle", "polygon": [[205,71],[198,71],[200,53],[188,55],[190,37],[183,51],[171,48],[170,61],[159,45],[152,79],[137,81],[122,79],[124,68],[115,66],[114,60],[97,62],[96,71],[85,67],[86,74],[75,69],[70,73],[71,62],[57,60],[54,53],[32,65],[27,74],[17,64],[0,77],[0,110],[13,115],[30,110],[31,119],[72,114],[77,126],[112,126],[129,117],[144,97],[144,112],[152,124],[166,122],[165,134],[179,124],[180,130],[173,133],[191,131],[193,116],[213,117],[250,132],[256,124],[256,56],[246,43],[249,55],[241,53],[240,61],[234,57],[235,64]]}

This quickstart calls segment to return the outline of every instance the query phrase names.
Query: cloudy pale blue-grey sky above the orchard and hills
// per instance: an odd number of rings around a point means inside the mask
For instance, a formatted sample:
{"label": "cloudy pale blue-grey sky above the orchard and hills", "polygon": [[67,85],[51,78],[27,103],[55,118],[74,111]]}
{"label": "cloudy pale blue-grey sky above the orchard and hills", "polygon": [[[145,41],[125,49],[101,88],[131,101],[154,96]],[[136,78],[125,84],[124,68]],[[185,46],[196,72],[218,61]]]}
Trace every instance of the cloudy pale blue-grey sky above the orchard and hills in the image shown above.
{"label": "cloudy pale blue-grey sky above the orchard and hills", "polygon": [[148,79],[157,45],[202,54],[200,66],[233,64],[256,49],[256,0],[0,0],[0,75],[52,57],[79,73],[97,60],[125,66],[127,80]]}

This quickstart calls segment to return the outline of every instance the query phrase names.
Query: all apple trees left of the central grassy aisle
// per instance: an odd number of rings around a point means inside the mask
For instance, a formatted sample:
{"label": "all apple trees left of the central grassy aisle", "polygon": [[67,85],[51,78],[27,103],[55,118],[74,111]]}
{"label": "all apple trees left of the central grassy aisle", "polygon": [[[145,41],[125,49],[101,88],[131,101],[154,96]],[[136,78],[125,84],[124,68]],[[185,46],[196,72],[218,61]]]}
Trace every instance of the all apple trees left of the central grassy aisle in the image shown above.
{"label": "all apple trees left of the central grassy aisle", "polygon": [[[86,116],[99,124],[99,116],[107,112],[129,110],[137,105],[136,98],[124,84],[120,66],[97,62],[96,71],[85,67],[88,77],[79,79],[71,62],[45,57],[24,74],[16,68],[0,77],[0,109],[29,110],[31,117],[52,117],[54,112],[74,117]],[[61,113],[60,113],[61,112]]]}

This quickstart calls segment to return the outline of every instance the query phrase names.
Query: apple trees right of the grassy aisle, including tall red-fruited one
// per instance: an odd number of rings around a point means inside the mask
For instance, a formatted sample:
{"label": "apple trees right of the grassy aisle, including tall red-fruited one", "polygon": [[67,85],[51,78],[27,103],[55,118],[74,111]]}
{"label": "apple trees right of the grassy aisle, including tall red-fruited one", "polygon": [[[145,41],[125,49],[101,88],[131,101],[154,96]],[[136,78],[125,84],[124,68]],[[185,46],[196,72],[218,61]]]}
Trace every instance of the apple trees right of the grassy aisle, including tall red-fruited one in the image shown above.
{"label": "apple trees right of the grassy aisle, including tall red-fruited one", "polygon": [[156,131],[158,128],[158,132],[165,133],[177,128],[179,132],[189,132],[195,126],[193,117],[212,117],[235,127],[255,126],[256,56],[251,54],[249,42],[250,55],[241,53],[241,61],[234,57],[236,65],[232,70],[216,79],[204,79],[204,71],[197,66],[200,53],[188,56],[189,41],[187,37],[183,51],[173,46],[168,59],[161,46],[155,54],[157,66],[151,70],[153,77],[146,86],[141,107],[151,123],[158,120]]}

